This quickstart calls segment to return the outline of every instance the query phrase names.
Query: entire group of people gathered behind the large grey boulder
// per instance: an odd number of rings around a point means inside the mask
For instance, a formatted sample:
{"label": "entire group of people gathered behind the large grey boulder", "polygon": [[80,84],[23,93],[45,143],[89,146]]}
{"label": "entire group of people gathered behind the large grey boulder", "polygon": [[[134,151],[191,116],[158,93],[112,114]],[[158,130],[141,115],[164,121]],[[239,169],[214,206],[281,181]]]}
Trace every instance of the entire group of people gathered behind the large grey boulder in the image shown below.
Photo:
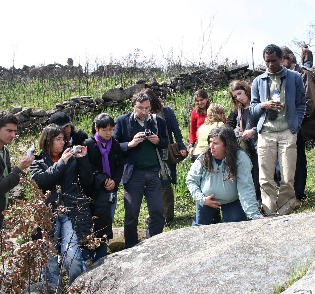
{"label": "entire group of people gathered behind the large grey boulder", "polygon": [[[268,45],[263,58],[265,74],[248,82],[230,83],[233,109],[227,119],[224,107],[211,103],[206,91],[195,92],[189,146],[193,164],[186,178],[196,201],[193,226],[213,223],[220,217],[219,209],[226,222],[289,214],[296,199],[304,197],[305,141],[314,138],[310,130],[315,121],[312,75],[299,68],[287,47],[281,50]],[[278,92],[279,102],[272,100],[273,92]],[[107,113],[97,115],[89,138],[74,129],[65,113],[52,115],[40,136],[39,155],[22,157],[12,170],[5,145],[14,139],[18,120],[8,111],[0,113],[1,209],[7,208],[9,190],[28,167],[38,187],[51,192],[46,203],[54,211],[66,208],[54,219],[50,232],[59,253],[59,258],[49,256],[45,268],[44,276],[52,283],[62,284],[60,264],[68,272],[70,285],[89,257],[96,261],[106,256],[120,183],[124,248],[139,242],[137,225],[143,196],[149,212],[147,238],[161,233],[165,223],[174,218],[171,184],[176,183],[176,164],[169,160],[173,136],[180,154],[187,155],[178,121],[151,89],[136,93],[131,105],[133,111],[116,121]],[[238,137],[248,142],[247,152],[238,144]],[[303,160],[296,161],[297,153]],[[281,177],[278,194],[274,185],[277,161]],[[162,182],[160,170],[165,164],[171,177]],[[295,167],[299,172],[295,173]],[[100,240],[95,250],[83,245],[92,227]]]}

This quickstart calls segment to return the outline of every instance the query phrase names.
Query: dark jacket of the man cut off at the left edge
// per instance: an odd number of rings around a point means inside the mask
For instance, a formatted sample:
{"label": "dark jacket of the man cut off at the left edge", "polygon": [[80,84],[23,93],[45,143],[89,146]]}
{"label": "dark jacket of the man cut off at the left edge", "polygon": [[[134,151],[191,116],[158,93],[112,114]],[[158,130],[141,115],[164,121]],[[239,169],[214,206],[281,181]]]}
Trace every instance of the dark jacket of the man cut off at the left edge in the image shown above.
{"label": "dark jacket of the man cut off at the left edge", "polygon": [[[3,146],[3,148],[6,153],[6,158],[4,158],[3,161],[2,157],[0,156],[0,226],[2,225],[3,220],[2,211],[7,209],[5,207],[5,194],[13,189],[17,184],[19,184],[19,174],[25,175],[25,173],[17,166],[11,170],[9,150],[6,146]],[[9,174],[6,177],[3,177],[5,165],[8,166]]]}

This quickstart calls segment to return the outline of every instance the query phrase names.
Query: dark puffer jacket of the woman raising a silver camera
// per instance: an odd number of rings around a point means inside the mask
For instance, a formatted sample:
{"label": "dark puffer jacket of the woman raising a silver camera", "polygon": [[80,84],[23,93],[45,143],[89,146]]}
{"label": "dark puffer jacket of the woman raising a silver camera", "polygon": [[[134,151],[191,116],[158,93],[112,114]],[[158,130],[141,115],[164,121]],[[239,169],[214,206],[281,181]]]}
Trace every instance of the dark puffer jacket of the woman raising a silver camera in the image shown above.
{"label": "dark puffer jacket of the woman raising a silver camera", "polygon": [[[88,199],[82,190],[83,187],[91,185],[94,179],[88,156],[79,158],[72,156],[65,164],[61,158],[58,162],[53,162],[47,153],[41,151],[40,155],[35,155],[30,171],[31,178],[44,193],[47,190],[51,191],[46,204],[52,205],[53,212],[61,201],[65,203],[70,210],[68,217],[72,221],[78,239],[83,241],[91,234],[92,227]],[[60,193],[57,192],[56,185],[61,186]]]}

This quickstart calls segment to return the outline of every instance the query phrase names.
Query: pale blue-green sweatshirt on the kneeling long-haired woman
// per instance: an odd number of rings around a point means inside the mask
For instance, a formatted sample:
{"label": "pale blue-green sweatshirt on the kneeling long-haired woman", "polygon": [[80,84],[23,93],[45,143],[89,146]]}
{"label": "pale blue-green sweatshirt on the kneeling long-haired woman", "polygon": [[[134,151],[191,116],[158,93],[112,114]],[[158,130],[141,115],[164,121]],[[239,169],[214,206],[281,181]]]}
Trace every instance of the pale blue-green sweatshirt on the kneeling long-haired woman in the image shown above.
{"label": "pale blue-green sweatshirt on the kneeling long-haired woman", "polygon": [[250,219],[256,220],[261,217],[251,174],[252,163],[247,154],[242,150],[237,151],[237,174],[234,176],[233,182],[224,181],[227,174],[225,159],[218,166],[212,157],[212,163],[215,170],[214,175],[203,168],[200,156],[188,172],[186,185],[194,200],[203,206],[206,197],[212,193],[214,193],[212,200],[219,201],[221,204],[239,199],[244,212]]}

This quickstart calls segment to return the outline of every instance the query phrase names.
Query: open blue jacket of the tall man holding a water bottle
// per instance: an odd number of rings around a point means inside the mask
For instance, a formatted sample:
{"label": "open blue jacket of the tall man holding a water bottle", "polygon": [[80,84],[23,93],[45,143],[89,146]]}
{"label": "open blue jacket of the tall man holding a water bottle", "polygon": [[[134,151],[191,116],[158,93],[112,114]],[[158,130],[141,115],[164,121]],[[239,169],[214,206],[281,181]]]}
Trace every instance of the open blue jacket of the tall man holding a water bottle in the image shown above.
{"label": "open blue jacket of the tall man holding a water bottle", "polygon": [[[284,86],[285,114],[289,129],[292,134],[295,134],[301,128],[305,114],[306,102],[303,79],[301,74],[287,68],[283,69],[281,79]],[[254,79],[249,111],[252,115],[260,116],[257,125],[258,133],[261,132],[261,127],[266,117],[266,109],[261,108],[261,103],[268,100],[269,89],[270,79],[267,72]]]}

